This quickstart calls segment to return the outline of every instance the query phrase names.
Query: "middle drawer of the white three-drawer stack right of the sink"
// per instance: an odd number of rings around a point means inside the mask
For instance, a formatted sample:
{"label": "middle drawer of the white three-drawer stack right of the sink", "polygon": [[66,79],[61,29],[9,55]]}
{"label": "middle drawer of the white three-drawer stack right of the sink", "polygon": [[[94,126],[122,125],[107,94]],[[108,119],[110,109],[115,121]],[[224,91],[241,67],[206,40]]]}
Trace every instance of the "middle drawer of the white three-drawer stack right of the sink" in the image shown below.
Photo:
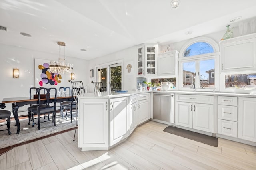
{"label": "middle drawer of the white three-drawer stack right of the sink", "polygon": [[218,119],[237,121],[237,107],[218,105]]}

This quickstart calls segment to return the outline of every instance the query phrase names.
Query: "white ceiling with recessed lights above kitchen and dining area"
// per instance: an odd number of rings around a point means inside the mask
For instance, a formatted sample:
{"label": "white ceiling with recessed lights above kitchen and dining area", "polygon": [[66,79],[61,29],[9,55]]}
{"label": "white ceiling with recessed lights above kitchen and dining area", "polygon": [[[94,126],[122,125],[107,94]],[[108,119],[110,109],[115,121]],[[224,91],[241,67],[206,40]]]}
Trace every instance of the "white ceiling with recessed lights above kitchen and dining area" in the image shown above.
{"label": "white ceiling with recessed lights above kitchen and dining area", "polygon": [[0,30],[0,43],[59,54],[62,41],[66,56],[90,60],[141,43],[166,45],[218,32],[235,25],[234,17],[256,16],[256,0],[180,0],[178,8],[170,2],[0,0],[0,26],[8,27]]}

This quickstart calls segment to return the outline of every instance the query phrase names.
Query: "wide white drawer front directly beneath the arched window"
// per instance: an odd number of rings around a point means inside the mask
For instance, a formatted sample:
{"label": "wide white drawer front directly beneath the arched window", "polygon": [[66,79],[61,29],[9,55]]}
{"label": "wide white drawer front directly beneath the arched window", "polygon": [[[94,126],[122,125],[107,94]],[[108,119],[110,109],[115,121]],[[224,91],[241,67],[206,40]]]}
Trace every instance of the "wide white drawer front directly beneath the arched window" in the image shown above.
{"label": "wide white drawer front directly beneath the arched window", "polygon": [[207,95],[176,95],[177,101],[185,101],[192,103],[205,103],[205,104],[213,104],[214,99],[213,96]]}

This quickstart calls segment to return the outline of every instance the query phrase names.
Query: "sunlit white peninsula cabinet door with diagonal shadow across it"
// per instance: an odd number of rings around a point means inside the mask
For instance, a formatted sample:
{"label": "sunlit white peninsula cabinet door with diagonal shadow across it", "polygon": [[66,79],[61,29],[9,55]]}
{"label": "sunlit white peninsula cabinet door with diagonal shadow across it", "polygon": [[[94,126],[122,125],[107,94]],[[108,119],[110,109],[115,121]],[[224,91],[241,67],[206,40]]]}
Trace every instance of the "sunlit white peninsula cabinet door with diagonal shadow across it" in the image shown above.
{"label": "sunlit white peninsula cabinet door with diagonal shadow across it", "polygon": [[128,97],[110,99],[110,146],[129,136]]}

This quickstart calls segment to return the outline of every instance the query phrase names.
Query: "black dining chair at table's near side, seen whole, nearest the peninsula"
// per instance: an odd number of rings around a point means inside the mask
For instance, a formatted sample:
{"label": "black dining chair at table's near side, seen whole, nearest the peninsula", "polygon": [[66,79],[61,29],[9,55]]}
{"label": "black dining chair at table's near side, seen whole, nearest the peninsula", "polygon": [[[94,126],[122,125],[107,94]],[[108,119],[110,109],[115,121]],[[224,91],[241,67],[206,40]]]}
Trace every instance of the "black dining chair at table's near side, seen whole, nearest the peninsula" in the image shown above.
{"label": "black dining chair at table's near side, seen whole, nearest the peninsula", "polygon": [[[44,91],[46,93],[44,93]],[[45,94],[45,98],[41,97],[40,94]],[[38,89],[38,105],[36,109],[32,109],[32,119],[34,127],[34,114],[38,115],[38,130],[40,130],[40,114],[52,113],[52,122],[54,122],[54,126],[56,126],[56,97],[57,97],[57,89],[56,88],[44,88],[40,87]],[[50,120],[50,118],[48,118]]]}

